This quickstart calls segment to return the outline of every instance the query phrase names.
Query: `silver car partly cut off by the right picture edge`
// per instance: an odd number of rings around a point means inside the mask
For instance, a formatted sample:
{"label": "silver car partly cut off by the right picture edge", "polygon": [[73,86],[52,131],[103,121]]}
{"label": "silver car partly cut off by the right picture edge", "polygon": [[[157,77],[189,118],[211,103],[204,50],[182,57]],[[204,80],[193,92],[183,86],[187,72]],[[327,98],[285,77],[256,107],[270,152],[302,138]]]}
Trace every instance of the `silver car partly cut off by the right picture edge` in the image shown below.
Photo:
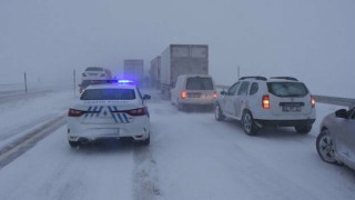
{"label": "silver car partly cut off by the right picture edge", "polygon": [[325,162],[355,169],[355,107],[326,116],[321,123],[316,149]]}

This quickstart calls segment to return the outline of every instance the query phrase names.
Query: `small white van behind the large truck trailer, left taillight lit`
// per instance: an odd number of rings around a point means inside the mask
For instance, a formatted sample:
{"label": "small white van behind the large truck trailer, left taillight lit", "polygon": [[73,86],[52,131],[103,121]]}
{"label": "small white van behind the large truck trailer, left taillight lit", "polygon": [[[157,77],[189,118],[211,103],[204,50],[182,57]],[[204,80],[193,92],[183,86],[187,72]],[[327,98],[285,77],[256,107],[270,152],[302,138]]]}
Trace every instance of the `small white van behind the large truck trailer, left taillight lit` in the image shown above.
{"label": "small white van behind the large truck trailer, left taillight lit", "polygon": [[171,102],[179,110],[189,106],[203,106],[213,109],[216,90],[211,76],[183,74],[179,76],[174,88],[171,89]]}

